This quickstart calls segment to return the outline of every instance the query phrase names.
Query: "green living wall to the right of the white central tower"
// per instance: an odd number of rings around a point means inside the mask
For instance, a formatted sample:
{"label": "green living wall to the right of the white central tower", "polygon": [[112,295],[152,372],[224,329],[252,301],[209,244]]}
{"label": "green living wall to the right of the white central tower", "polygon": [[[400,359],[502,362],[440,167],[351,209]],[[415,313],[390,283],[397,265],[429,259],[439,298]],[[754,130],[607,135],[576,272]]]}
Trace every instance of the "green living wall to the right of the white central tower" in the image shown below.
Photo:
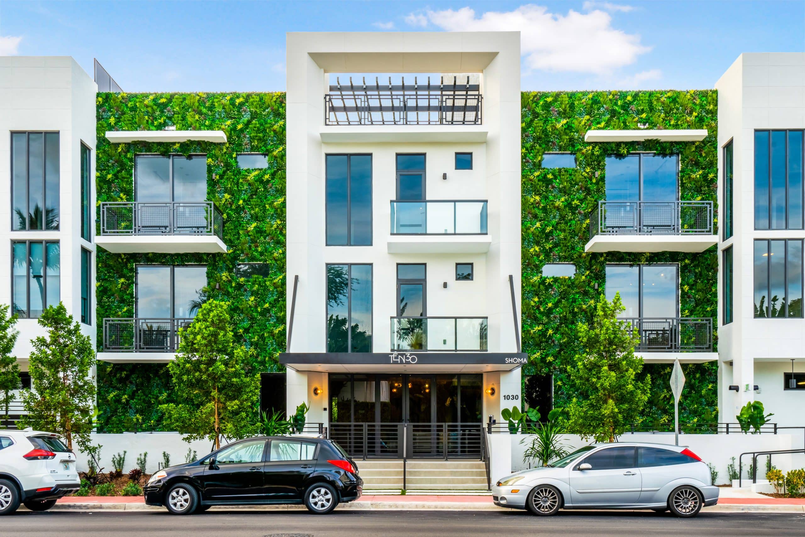
{"label": "green living wall to the right of the white central tower", "polygon": [[[712,317],[716,328],[716,246],[702,254],[585,254],[589,218],[605,199],[605,157],[634,151],[679,154],[681,200],[716,204],[717,98],[715,90],[522,93],[522,341],[526,374],[554,375],[554,405],[564,406],[564,373],[576,353],[574,326],[588,320],[605,289],[608,262],[679,263],[679,306],[684,317]],[[590,129],[707,129],[698,143],[585,143]],[[541,166],[544,151],[576,153],[575,169]],[[572,262],[572,278],[543,277],[543,265]],[[596,290],[595,286],[598,286]],[[717,419],[717,362],[683,366],[687,378],[680,423]],[[671,365],[643,368],[651,395],[643,421],[673,423]]]}

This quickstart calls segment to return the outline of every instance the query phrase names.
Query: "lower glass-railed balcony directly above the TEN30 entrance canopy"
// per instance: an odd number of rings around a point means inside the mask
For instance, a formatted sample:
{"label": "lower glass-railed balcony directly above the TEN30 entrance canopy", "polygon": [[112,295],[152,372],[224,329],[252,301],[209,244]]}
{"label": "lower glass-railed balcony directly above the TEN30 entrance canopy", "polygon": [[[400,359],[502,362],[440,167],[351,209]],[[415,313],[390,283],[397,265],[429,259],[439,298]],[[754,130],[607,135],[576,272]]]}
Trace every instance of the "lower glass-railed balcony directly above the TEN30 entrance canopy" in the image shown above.
{"label": "lower glass-railed balcony directly above the TEN30 entrance canopy", "polygon": [[487,350],[486,317],[391,317],[391,350]]}

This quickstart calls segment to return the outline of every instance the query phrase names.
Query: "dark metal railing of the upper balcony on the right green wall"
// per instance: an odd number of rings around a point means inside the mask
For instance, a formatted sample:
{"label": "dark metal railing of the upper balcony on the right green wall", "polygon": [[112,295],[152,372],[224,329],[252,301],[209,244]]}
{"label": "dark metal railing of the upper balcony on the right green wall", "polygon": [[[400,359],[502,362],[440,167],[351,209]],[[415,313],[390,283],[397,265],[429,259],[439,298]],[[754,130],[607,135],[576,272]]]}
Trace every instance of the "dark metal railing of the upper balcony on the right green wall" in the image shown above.
{"label": "dark metal railing of the upper balcony on the right green wall", "polygon": [[712,235],[712,201],[599,201],[590,238],[599,234]]}

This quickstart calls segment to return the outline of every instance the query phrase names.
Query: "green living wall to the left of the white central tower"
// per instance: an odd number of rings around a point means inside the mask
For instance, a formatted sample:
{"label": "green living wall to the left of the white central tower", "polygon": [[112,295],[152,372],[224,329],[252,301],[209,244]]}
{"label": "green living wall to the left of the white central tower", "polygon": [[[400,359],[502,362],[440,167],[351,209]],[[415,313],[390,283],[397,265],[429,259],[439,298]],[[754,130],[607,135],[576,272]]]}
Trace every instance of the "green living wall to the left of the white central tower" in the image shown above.
{"label": "green living wall to the left of the white central tower", "polygon": [[[109,143],[107,130],[223,130],[226,143]],[[268,155],[265,169],[237,167],[240,152]],[[97,252],[97,322],[134,316],[135,266],[207,266],[211,299],[229,302],[234,332],[253,370],[278,370],[285,345],[285,94],[98,93],[97,200],[134,200],[134,155],[207,155],[207,199],[224,217],[226,254]],[[98,229],[100,231],[100,229]],[[240,262],[266,263],[267,277],[238,278]],[[216,287],[219,287],[218,289]],[[97,345],[101,349],[102,330]],[[159,430],[159,404],[171,401],[170,375],[160,364],[99,362],[98,407],[109,432]]]}

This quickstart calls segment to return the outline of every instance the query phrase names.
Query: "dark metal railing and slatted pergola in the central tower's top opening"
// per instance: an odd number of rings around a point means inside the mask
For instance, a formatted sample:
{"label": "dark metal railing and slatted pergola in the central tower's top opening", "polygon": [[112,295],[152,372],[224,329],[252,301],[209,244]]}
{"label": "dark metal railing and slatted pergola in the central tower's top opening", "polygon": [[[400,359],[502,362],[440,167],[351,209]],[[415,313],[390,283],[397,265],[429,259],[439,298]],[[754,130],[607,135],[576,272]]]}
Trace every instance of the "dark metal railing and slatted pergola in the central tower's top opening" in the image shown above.
{"label": "dark metal railing and slatted pergola in the central tower's top opening", "polygon": [[[336,79],[337,80],[337,79]],[[458,83],[453,77],[452,84],[380,84],[375,78],[374,85],[341,85],[341,81],[330,86],[330,93],[324,95],[324,125],[481,125],[483,96],[480,86]]]}

